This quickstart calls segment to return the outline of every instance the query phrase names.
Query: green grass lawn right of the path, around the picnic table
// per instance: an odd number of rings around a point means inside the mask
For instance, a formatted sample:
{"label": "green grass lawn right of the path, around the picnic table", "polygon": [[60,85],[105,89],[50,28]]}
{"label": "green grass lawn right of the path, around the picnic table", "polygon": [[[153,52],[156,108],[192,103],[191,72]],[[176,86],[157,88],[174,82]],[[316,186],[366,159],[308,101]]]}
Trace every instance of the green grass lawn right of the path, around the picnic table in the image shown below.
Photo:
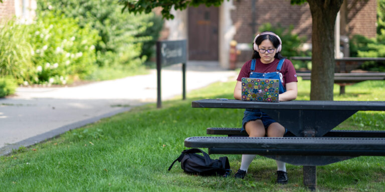
{"label": "green grass lawn right of the path, around the picnic table", "polygon": [[[188,175],[171,162],[185,149],[183,140],[205,136],[207,127],[240,127],[242,109],[191,108],[191,101],[233,98],[235,82],[192,91],[176,98],[71,130],[58,138],[0,157],[0,191],[307,191],[302,166],[287,164],[289,182],[275,184],[275,160],[257,156],[244,180],[230,176]],[[298,100],[309,99],[309,81],[299,81]],[[334,100],[385,100],[384,81],[346,87]],[[385,130],[385,112],[358,112],[338,129]],[[207,149],[204,149],[207,151]],[[223,155],[211,155],[219,158]],[[233,174],[241,155],[227,155]],[[356,157],[317,166],[319,191],[382,191],[384,157]],[[233,175],[232,174],[232,175]]]}

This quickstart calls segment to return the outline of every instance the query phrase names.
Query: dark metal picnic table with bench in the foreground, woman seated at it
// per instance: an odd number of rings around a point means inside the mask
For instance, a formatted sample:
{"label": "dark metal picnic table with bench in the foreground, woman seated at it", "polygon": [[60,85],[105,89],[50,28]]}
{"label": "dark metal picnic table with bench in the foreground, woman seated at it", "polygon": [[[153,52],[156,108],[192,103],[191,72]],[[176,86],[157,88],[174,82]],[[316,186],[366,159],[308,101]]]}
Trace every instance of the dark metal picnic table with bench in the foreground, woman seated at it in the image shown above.
{"label": "dark metal picnic table with bench in the foreground, woman seated at it", "polygon": [[[210,154],[259,154],[303,166],[303,182],[316,188],[316,166],[357,156],[385,156],[385,131],[333,131],[357,111],[385,111],[385,101],[285,101],[278,103],[203,99],[194,108],[261,109],[290,131],[287,137],[188,137],[186,147]],[[227,128],[221,130],[226,132]],[[211,129],[212,131],[212,129]],[[235,133],[229,128],[229,133]],[[209,133],[209,130],[208,130]],[[240,133],[241,134],[241,133]]]}

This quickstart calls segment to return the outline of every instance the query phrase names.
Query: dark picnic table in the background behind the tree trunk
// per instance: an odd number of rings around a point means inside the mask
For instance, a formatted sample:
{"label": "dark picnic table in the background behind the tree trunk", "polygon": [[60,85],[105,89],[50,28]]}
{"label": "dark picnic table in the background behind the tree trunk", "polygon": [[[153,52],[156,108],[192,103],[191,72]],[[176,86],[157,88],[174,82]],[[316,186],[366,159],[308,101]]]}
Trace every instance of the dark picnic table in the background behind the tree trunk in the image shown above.
{"label": "dark picnic table in the background behind the tree trunk", "polygon": [[[291,57],[291,60],[311,61],[311,57]],[[345,93],[345,86],[367,80],[385,80],[385,73],[351,73],[367,61],[385,62],[385,58],[344,57],[335,59],[334,83],[340,86],[340,94]],[[298,72],[303,80],[310,80],[310,73]]]}

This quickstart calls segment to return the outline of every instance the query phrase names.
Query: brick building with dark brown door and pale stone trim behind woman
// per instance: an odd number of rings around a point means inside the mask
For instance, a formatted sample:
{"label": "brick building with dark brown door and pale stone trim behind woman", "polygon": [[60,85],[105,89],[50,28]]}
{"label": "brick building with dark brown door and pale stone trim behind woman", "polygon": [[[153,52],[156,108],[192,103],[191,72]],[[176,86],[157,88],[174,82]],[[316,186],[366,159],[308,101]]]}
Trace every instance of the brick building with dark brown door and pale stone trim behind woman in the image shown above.
{"label": "brick building with dark brown door and pale stone trim behind woman", "polygon": [[[340,11],[340,35],[375,37],[376,8],[375,0],[345,0]],[[240,62],[251,57],[252,41],[264,23],[280,24],[281,27],[293,25],[293,33],[306,37],[307,43],[311,43],[312,18],[307,3],[290,5],[289,0],[225,0],[219,8],[191,7],[172,14],[175,19],[165,23],[169,31],[167,39],[187,39],[190,60],[219,61],[223,68],[229,67],[232,40],[244,49],[238,57]]]}

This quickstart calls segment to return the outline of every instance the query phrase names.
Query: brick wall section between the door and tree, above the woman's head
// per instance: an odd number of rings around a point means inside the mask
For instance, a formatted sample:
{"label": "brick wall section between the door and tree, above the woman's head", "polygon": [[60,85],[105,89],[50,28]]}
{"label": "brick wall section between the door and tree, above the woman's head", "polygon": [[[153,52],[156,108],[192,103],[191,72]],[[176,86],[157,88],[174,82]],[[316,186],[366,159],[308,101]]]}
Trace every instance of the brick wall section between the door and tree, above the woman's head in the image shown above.
{"label": "brick wall section between the door and tree, above the woman's head", "polygon": [[[255,33],[259,33],[259,26],[265,23],[280,24],[282,27],[294,26],[294,33],[311,38],[311,15],[307,4],[292,6],[288,0],[255,1]],[[234,39],[239,43],[251,43],[256,34],[253,34],[252,1],[234,1],[235,10],[232,11],[232,20],[237,30]]]}

